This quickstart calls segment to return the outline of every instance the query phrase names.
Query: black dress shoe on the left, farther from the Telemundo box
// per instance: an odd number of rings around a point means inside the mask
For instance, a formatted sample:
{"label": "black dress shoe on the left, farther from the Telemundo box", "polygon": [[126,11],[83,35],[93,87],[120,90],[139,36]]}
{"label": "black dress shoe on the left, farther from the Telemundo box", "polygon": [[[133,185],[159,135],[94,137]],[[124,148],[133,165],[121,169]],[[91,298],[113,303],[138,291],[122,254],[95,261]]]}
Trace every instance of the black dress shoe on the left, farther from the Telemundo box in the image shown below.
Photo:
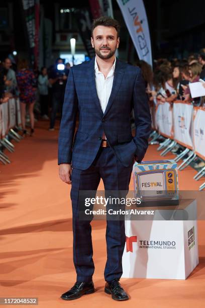
{"label": "black dress shoe on the left, farther from the Telemundo box", "polygon": [[94,293],[93,281],[79,282],[76,281],[73,287],[61,295],[62,299],[72,300],[81,297],[84,294]]}

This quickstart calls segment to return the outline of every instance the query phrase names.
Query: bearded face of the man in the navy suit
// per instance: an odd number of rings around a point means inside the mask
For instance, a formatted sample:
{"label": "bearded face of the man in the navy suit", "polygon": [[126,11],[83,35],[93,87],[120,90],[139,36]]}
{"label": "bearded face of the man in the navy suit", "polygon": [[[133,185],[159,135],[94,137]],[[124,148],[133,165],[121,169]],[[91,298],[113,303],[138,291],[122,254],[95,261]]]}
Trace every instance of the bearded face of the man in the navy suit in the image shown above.
{"label": "bearded face of the man in the navy suit", "polygon": [[97,26],[93,30],[91,44],[95,53],[101,59],[110,59],[116,52],[120,43],[114,27]]}

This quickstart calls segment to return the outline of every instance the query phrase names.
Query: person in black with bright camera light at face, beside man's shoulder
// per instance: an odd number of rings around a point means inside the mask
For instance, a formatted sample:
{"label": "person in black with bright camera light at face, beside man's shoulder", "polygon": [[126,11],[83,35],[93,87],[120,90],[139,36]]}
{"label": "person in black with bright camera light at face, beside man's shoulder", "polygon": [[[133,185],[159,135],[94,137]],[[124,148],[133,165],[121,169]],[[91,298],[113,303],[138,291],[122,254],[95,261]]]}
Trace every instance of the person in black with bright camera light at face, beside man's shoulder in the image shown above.
{"label": "person in black with bright camera light at face, beside man's shoulder", "polygon": [[61,69],[58,64],[63,64],[63,59],[58,58],[56,60],[56,65],[49,76],[49,83],[52,85],[52,109],[49,128],[50,131],[54,130],[56,113],[59,109],[62,116],[63,100],[67,81],[65,69]]}

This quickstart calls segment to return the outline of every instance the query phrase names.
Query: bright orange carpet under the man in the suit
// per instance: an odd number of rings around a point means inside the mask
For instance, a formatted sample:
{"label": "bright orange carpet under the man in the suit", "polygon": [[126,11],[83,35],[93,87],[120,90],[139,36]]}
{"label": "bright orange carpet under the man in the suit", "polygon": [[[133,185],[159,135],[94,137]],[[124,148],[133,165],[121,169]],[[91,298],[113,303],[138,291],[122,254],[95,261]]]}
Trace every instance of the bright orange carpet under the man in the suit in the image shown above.
{"label": "bright orange carpet under the man in the suit", "polygon": [[[12,163],[0,165],[0,297],[38,297],[39,307],[204,307],[205,223],[198,222],[199,265],[187,280],[121,279],[131,299],[119,302],[104,293],[105,221],[92,222],[95,273],[94,294],[74,301],[60,295],[75,282],[72,263],[70,186],[58,178],[58,130],[38,122],[34,137],[14,142]],[[160,159],[156,145],[146,160]],[[166,158],[174,156],[167,155]],[[198,190],[196,172],[179,172],[181,190]],[[102,189],[102,183],[100,183]],[[132,181],[131,186],[132,189]]]}

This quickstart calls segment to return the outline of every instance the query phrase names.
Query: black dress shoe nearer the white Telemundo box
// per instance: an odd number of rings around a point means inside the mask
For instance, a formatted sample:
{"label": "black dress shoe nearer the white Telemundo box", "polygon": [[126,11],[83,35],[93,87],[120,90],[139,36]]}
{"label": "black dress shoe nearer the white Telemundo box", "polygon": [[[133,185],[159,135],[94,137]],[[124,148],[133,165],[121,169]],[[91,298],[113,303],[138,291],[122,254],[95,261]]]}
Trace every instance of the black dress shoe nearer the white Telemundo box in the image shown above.
{"label": "black dress shoe nearer the white Telemundo box", "polygon": [[112,294],[112,298],[115,300],[127,300],[129,299],[128,294],[122,288],[119,279],[114,279],[113,281],[106,282],[105,292],[107,294]]}

